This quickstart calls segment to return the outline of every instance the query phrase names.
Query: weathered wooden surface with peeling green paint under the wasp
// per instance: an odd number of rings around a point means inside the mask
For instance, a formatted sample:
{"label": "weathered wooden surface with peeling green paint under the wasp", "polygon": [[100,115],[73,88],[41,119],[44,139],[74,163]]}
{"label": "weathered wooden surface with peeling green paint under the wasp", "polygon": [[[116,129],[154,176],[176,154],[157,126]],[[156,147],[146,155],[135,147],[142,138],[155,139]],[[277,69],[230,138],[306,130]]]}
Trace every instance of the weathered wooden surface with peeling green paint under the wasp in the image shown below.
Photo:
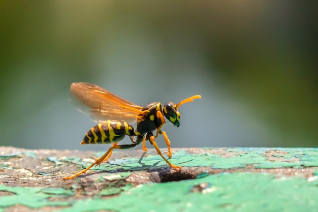
{"label": "weathered wooden surface with peeling green paint under the wasp", "polygon": [[62,180],[102,154],[0,147],[0,211],[318,211],[317,148],[120,150]]}

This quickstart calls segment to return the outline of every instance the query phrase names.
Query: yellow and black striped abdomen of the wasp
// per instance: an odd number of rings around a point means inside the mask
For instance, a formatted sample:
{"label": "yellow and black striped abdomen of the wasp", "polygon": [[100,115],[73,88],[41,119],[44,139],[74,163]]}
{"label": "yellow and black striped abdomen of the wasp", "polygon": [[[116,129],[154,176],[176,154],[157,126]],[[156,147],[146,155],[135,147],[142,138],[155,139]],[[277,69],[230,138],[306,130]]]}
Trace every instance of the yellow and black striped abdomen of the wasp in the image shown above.
{"label": "yellow and black striped abdomen of the wasp", "polygon": [[106,144],[121,141],[125,135],[134,136],[134,128],[119,120],[107,120],[92,127],[81,144]]}

